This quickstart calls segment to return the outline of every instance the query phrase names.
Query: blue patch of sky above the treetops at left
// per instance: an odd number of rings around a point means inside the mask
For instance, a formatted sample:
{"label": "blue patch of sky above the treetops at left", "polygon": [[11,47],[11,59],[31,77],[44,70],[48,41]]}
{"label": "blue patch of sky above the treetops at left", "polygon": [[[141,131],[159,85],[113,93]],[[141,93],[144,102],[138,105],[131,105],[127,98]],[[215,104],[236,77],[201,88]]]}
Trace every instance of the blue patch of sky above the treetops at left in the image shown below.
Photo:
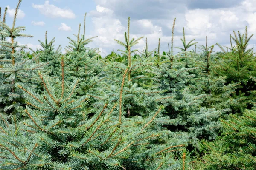
{"label": "blue patch of sky above the treetops at left", "polygon": [[[5,8],[8,6],[9,13],[7,15],[7,23],[12,24],[13,12],[17,6],[18,0],[6,0],[1,2],[0,6]],[[68,44],[67,37],[74,37],[73,34],[77,34],[79,23],[84,21],[84,13],[95,9],[96,4],[94,1],[90,0],[89,3],[84,0],[76,0],[76,3],[73,3],[73,0],[50,0],[47,7],[45,0],[23,0],[20,5],[19,16],[17,19],[16,26],[26,26],[26,34],[33,35],[33,38],[19,39],[18,42],[22,44],[29,43],[32,48],[38,48],[39,40],[44,40],[45,31],[49,39],[56,37],[55,46],[61,45],[63,48]],[[38,6],[39,5],[39,6]],[[41,5],[41,6],[40,6]],[[54,6],[52,6],[54,5]],[[49,6],[52,6],[51,8]],[[42,13],[39,9],[47,11],[49,8],[59,9],[59,12],[70,11],[72,15],[63,14],[51,14],[51,11],[48,13]],[[69,17],[71,16],[71,17]],[[92,20],[90,17],[87,17],[87,34],[89,36],[90,31],[93,30]],[[65,23],[67,26],[71,27],[71,30],[59,30],[61,23]],[[64,49],[63,49],[64,51]]]}

